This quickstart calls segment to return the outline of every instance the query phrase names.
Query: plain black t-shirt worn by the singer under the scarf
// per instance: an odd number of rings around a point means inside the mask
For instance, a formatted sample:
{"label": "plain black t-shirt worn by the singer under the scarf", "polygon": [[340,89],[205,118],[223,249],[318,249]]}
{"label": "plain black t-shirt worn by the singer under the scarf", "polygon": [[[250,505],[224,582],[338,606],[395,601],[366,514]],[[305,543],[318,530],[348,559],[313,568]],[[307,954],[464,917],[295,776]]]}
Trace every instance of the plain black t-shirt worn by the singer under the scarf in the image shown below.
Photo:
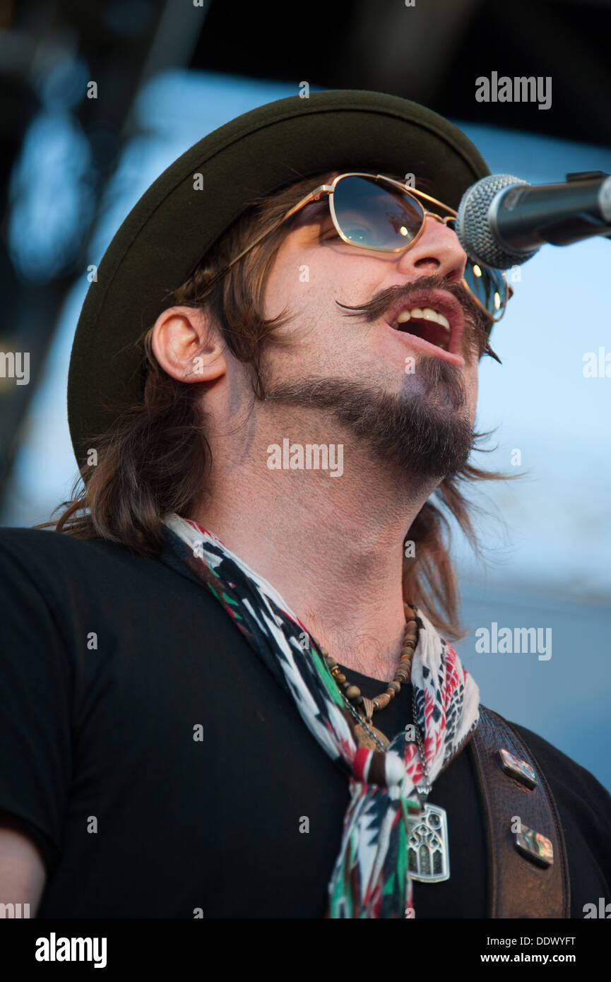
{"label": "plain black t-shirt worn by the singer under the scarf", "polygon": [[[0,810],[44,858],[38,916],[323,917],[348,782],[218,601],[124,546],[44,530],[0,529],[0,576]],[[411,702],[404,685],[376,726],[403,730]],[[556,797],[581,918],[611,897],[611,796],[517,730]],[[485,917],[469,745],[430,800],[451,876],[415,884],[416,917]]]}

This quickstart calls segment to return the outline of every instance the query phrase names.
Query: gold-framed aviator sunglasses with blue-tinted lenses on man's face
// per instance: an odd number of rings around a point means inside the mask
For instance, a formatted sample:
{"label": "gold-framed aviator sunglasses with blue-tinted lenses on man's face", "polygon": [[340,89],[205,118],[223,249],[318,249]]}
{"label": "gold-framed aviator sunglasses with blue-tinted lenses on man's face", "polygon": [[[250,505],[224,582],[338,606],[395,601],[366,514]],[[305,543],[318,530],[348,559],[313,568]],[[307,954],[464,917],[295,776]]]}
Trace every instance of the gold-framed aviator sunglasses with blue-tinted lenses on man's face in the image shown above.
{"label": "gold-framed aviator sunglasses with blue-tinted lenses on man's face", "polygon": [[[328,194],[329,210],[335,229],[343,242],[350,246],[372,249],[376,252],[402,252],[417,242],[424,231],[426,218],[434,218],[447,225],[452,231],[456,231],[457,212],[447,204],[425,194],[424,191],[417,191],[414,188],[408,190],[406,185],[382,174],[361,172],[339,174],[332,184],[320,185],[306,194],[271,228],[266,229],[250,243],[250,246],[232,259],[225,269],[208,283],[206,292],[265,236],[310,202],[319,201],[325,194]],[[425,210],[422,202],[440,209],[442,214]],[[504,272],[480,266],[468,259],[461,282],[488,320],[495,322],[501,319],[507,301],[513,294]]]}

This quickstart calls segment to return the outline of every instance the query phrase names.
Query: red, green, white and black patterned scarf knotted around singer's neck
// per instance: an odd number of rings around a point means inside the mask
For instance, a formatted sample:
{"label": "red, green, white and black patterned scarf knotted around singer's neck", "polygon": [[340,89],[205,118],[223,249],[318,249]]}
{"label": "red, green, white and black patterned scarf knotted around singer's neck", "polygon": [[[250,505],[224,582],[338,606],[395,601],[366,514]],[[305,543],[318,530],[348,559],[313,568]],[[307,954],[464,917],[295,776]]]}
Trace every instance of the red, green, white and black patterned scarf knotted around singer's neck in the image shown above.
{"label": "red, green, white and black patterned scarf knotted around singer's neck", "polygon": [[[408,838],[417,817],[415,788],[423,781],[417,743],[407,742],[401,731],[386,752],[359,747],[337,683],[277,590],[194,521],[168,515],[164,523],[174,534],[167,535],[162,560],[182,573],[189,571],[198,582],[202,579],[193,572],[193,558],[207,568],[203,578],[208,589],[293,697],[312,736],[348,777],[351,801],[329,882],[327,916],[414,916]],[[417,623],[415,723],[423,735],[432,783],[477,725],[479,690],[452,645],[421,611]]]}

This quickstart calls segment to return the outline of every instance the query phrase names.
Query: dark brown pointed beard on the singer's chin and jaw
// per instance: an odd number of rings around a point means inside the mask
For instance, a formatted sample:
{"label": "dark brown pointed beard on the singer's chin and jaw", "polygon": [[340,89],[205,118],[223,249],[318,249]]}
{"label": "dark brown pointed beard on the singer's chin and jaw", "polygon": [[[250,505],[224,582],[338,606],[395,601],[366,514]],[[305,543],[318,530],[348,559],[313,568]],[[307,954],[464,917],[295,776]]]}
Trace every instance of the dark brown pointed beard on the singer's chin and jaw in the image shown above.
{"label": "dark brown pointed beard on the singer's chin and jaw", "polygon": [[398,393],[345,379],[268,385],[265,401],[326,410],[368,449],[372,460],[422,480],[455,475],[473,445],[460,368],[433,355],[417,360]]}

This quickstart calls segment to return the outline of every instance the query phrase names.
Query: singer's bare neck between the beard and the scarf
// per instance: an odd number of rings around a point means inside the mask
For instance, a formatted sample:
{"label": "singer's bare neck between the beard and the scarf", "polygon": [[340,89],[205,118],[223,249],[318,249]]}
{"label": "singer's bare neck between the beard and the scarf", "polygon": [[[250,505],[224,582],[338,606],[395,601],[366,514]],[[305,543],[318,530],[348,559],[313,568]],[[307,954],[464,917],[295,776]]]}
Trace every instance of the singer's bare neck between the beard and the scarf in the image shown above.
{"label": "singer's bare neck between the beard and the scarf", "polygon": [[[341,474],[305,464],[270,469],[274,443],[286,450],[277,463],[291,460],[279,431],[304,450],[329,446],[329,433],[320,426],[316,432],[311,419],[300,426],[294,418],[280,430],[276,424],[275,440],[266,427],[253,427],[250,440],[238,428],[241,440],[233,448],[227,444],[234,437],[213,441],[208,493],[188,517],[267,579],[336,661],[392,680],[405,632],[404,540],[436,483],[386,473],[346,433]],[[337,448],[342,436],[337,425],[332,429]],[[330,459],[337,464],[337,456]],[[295,449],[293,460],[299,463]]]}

